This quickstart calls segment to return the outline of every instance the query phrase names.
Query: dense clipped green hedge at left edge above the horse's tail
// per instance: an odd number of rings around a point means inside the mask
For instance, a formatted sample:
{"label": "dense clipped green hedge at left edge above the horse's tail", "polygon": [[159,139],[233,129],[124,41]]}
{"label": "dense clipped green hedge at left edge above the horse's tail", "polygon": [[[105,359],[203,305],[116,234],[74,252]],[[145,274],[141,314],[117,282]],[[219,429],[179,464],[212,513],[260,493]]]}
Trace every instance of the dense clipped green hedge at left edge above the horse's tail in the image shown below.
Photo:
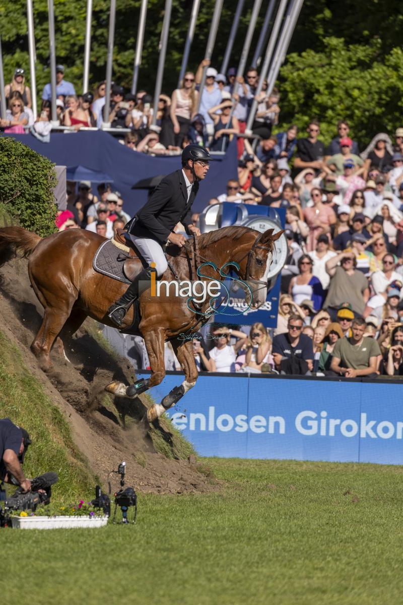
{"label": "dense clipped green hedge at left edge above the horse's tail", "polygon": [[53,166],[15,139],[0,138],[0,203],[22,227],[42,237],[56,231]]}

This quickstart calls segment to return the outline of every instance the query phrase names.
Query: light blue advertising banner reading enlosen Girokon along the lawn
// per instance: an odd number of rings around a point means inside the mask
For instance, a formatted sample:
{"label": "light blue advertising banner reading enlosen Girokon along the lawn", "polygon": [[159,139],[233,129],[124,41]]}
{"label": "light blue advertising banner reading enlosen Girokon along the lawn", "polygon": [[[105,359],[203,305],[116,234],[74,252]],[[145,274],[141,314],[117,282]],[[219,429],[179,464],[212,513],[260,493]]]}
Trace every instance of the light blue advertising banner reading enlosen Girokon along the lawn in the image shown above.
{"label": "light blue advertising banner reading enlosen Girokon along the lawn", "polygon": [[[150,394],[160,402],[182,380],[166,376]],[[385,382],[204,375],[167,416],[201,456],[402,464],[399,389]]]}

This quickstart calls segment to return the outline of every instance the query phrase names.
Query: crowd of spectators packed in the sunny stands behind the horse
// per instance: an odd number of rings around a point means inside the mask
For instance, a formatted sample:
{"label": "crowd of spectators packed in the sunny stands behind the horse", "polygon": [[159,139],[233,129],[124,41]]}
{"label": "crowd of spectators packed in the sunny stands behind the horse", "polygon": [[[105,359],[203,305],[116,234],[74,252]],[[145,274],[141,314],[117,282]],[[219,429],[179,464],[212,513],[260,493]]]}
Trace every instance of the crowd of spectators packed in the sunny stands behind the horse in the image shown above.
{"label": "crowd of spectators packed in the sunny stands behind the horse", "polygon": [[[121,143],[151,155],[179,154],[189,143],[225,152],[231,139],[245,133],[251,104],[258,103],[252,131],[260,138],[237,137],[237,178],[228,181],[226,191],[214,192],[210,203],[285,208],[288,255],[277,328],[270,334],[261,324],[250,333],[223,329],[213,333],[211,350],[195,342],[200,368],[402,374],[403,127],[375,134],[366,148],[345,119],[335,125],[327,146],[317,119],[306,125],[305,136],[294,124],[277,132],[280,92],[263,86],[257,96],[256,69],[237,78],[235,68],[219,74],[207,59],[196,73],[187,72],[170,96],[161,94],[156,108],[146,90],[132,95],[113,84],[105,112],[105,82],[94,94],[77,96],[64,79],[63,65],[56,72],[60,123],[76,130],[100,128],[107,114],[112,128],[129,130]],[[31,126],[46,136],[53,118],[49,84],[36,123],[22,68],[15,70],[5,96],[8,110],[1,128],[24,132]],[[57,224],[112,237],[129,219],[122,208],[118,191],[104,184],[95,195],[91,183],[83,181],[78,194],[73,187],[68,191],[68,208]]]}

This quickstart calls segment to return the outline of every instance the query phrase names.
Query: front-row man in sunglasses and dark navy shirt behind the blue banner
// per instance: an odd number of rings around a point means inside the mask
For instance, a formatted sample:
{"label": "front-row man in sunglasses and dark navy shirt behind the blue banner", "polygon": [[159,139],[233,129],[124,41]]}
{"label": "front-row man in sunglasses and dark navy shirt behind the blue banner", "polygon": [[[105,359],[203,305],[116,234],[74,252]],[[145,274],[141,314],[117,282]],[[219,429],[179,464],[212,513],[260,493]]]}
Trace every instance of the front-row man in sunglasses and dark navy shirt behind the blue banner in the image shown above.
{"label": "front-row man in sunglasses and dark navy shirt behind the blue banner", "polygon": [[277,371],[283,374],[306,374],[308,370],[312,370],[314,360],[312,339],[302,334],[302,329],[303,321],[300,316],[290,315],[288,332],[274,336],[272,356]]}

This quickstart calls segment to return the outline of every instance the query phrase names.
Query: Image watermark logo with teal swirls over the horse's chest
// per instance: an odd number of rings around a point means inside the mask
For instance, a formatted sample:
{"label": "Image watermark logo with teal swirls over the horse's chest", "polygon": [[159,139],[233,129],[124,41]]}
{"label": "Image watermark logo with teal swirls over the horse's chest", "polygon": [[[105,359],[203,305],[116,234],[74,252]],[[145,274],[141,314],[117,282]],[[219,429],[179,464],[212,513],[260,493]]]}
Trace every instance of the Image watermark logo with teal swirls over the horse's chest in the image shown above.
{"label": "Image watermark logo with teal swirls over the horse's chest", "polygon": [[[150,266],[155,267],[155,263],[151,263]],[[204,267],[212,267],[214,271],[218,272],[222,278],[227,280],[227,283],[224,283],[224,281],[221,280],[216,280],[209,275],[205,275],[205,273],[202,272]],[[239,270],[240,268],[239,264],[235,263],[234,261],[228,261],[228,263],[223,264],[221,267],[218,267],[216,264],[207,261],[206,263],[202,263],[196,269],[196,273],[201,279],[195,281],[179,279],[172,281],[159,281],[156,279],[155,272],[153,272],[151,276],[151,296],[166,296],[167,298],[170,296],[175,296],[176,298],[185,298],[187,299],[187,308],[193,313],[198,313],[198,315],[209,316],[216,313],[220,313],[221,315],[243,315],[243,313],[245,313],[245,311],[249,310],[251,307],[253,302],[253,293],[246,281],[228,275],[228,270],[230,267],[233,267],[236,270]],[[228,284],[228,280],[230,280],[230,284]],[[238,284],[239,287],[241,287],[247,293],[248,302],[246,304],[246,308],[242,309],[242,312],[226,313],[225,311],[228,307],[228,304],[230,304],[231,288],[235,284]],[[200,306],[204,305],[207,301],[207,310],[202,312],[199,308],[195,309],[195,304],[196,306]],[[217,304],[217,306],[214,306],[215,304]]]}

